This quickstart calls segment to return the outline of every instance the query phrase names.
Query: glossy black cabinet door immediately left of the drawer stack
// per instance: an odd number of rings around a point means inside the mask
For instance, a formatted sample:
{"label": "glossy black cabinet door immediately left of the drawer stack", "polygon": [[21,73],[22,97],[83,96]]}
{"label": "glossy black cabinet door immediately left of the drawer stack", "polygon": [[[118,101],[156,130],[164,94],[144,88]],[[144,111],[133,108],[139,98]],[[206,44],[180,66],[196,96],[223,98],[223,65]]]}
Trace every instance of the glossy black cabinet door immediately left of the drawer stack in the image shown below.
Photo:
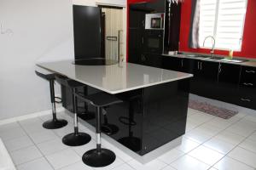
{"label": "glossy black cabinet door immediately left of the drawer stack", "polygon": [[241,65],[220,63],[218,72],[218,99],[237,104],[239,101],[238,84]]}

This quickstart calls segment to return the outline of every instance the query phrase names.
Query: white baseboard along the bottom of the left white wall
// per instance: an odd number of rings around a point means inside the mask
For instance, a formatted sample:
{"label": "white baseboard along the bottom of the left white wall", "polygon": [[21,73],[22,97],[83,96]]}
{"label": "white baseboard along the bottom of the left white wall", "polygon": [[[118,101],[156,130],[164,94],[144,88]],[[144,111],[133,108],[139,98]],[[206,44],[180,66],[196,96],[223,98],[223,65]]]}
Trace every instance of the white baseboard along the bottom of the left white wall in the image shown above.
{"label": "white baseboard along the bottom of the left white wall", "polygon": [[[59,107],[59,108],[56,108],[56,111],[61,112],[61,111],[65,111],[65,109],[63,107]],[[16,117],[9,118],[9,119],[3,119],[3,120],[0,120],[0,125],[8,124],[11,122],[23,121],[23,120],[31,119],[31,118],[38,117],[38,116],[49,115],[51,113],[52,113],[51,110],[47,110],[47,111],[39,111],[39,112],[35,112],[32,114],[27,114],[27,115],[23,115],[23,116],[16,116]]]}

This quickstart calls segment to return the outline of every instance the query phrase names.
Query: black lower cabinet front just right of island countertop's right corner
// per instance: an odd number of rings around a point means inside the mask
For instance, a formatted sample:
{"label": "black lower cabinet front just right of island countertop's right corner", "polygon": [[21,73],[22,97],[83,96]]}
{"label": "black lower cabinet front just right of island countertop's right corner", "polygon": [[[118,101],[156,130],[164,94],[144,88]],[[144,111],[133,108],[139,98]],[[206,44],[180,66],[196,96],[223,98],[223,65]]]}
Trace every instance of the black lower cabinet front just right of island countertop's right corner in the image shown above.
{"label": "black lower cabinet front just right of island countertop's right corner", "polygon": [[191,59],[191,62],[194,65],[194,77],[191,81],[190,92],[207,98],[215,98],[219,63],[198,59]]}

